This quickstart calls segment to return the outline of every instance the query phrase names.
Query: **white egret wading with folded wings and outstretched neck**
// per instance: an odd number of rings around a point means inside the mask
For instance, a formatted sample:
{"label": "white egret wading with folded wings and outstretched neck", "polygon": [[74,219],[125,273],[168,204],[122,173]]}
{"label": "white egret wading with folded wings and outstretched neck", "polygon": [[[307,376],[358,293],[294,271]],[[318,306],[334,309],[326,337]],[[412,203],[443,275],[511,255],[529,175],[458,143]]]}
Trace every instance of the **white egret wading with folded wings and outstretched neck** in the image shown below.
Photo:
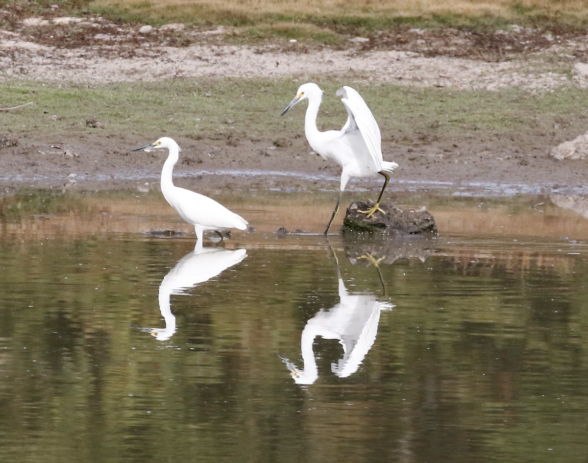
{"label": "white egret wading with folded wings and outstretched neck", "polygon": [[[204,196],[203,194],[177,187],[173,184],[172,173],[173,166],[178,162],[180,147],[175,140],[169,137],[161,137],[151,145],[135,148],[138,150],[151,150],[167,148],[169,151],[168,159],[163,163],[161,171],[161,192],[163,197],[173,209],[189,224],[194,226],[196,239],[202,245],[203,231],[213,230],[220,234],[220,230],[239,229],[245,230],[248,222],[243,217],[230,212],[225,206],[215,200]],[[197,243],[197,244],[198,244]]]}

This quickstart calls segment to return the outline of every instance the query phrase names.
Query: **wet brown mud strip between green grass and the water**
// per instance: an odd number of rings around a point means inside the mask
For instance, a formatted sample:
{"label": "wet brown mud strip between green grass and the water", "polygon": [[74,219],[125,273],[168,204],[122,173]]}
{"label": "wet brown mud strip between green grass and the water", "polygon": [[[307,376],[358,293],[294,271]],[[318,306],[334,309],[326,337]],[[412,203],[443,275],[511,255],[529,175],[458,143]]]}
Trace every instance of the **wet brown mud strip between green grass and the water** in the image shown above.
{"label": "wet brown mud strip between green grass and the water", "polygon": [[[65,147],[21,143],[0,149],[2,192],[19,189],[151,190],[158,189],[165,153],[133,152],[145,140],[122,140],[112,149],[99,135]],[[211,147],[213,140],[178,139],[181,160],[174,170],[179,186],[215,190],[338,190],[340,167],[312,153],[303,137],[292,146],[243,140],[238,146]],[[218,143],[218,140],[215,140]],[[399,168],[388,190],[447,190],[475,196],[588,194],[588,169],[583,160],[553,159],[544,153],[490,156],[443,155],[436,147],[423,152],[384,146],[385,159]],[[75,154],[72,154],[75,153]],[[352,179],[346,190],[378,189],[380,179]]]}

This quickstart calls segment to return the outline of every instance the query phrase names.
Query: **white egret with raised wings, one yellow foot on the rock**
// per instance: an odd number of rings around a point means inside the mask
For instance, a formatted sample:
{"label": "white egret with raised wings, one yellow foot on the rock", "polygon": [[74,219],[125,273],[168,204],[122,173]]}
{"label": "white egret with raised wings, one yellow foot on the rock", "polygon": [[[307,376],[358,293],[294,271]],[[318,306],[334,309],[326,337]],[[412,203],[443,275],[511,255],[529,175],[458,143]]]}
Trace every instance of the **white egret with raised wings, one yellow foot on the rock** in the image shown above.
{"label": "white egret with raised wings, one yellow foot on the rock", "polygon": [[380,209],[380,200],[390,181],[389,173],[394,172],[398,165],[395,162],[387,162],[382,159],[382,137],[380,128],[373,118],[372,112],[366,105],[363,98],[356,90],[348,86],[343,86],[337,90],[337,95],[342,96],[341,101],[348,112],[348,119],[341,130],[327,130],[319,132],[316,128],[316,116],[319,112],[319,106],[323,99],[323,90],[316,83],[305,83],[300,85],[295,98],[283,110],[282,116],[292,106],[296,105],[303,99],[308,99],[308,108],[304,122],[304,133],[309,145],[323,159],[332,157],[342,168],[341,184],[339,189],[339,198],[335,205],[335,210],[327,224],[325,234],[335,219],[339,210],[339,203],[343,190],[350,177],[371,177],[379,173],[385,178],[384,186],[377,197],[374,206],[363,213],[372,216],[376,211],[383,212]]}

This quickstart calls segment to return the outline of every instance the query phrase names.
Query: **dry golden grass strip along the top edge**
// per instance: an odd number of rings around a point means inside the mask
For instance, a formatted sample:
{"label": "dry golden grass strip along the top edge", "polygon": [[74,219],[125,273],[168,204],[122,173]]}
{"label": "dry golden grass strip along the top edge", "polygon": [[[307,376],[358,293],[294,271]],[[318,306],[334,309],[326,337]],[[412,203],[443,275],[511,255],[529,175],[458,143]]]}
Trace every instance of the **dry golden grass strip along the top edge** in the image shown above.
{"label": "dry golden grass strip along the top edge", "polygon": [[588,27],[585,0],[89,0],[88,9],[115,22],[227,26],[225,38],[236,43],[296,39],[335,47],[345,46],[349,36],[399,28]]}

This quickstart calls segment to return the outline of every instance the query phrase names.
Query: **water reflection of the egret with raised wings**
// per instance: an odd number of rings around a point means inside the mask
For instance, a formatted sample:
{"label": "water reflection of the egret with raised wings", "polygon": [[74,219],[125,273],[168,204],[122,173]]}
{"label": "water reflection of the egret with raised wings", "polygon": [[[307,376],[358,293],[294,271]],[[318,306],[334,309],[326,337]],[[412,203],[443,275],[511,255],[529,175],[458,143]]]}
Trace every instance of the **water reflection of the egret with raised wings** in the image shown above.
{"label": "water reflection of the egret with raised wings", "polygon": [[[339,279],[339,304],[326,310],[320,309],[314,317],[306,322],[300,337],[302,370],[287,358],[282,358],[297,384],[313,384],[319,377],[313,351],[313,344],[317,336],[323,339],[338,339],[339,344],[343,347],[343,357],[338,362],[331,364],[333,373],[340,378],[346,378],[358,371],[376,340],[380,312],[395,307],[388,301],[377,300],[373,294],[349,294],[341,277],[339,261],[334,252],[333,256]],[[377,270],[380,275],[379,269]]]}

